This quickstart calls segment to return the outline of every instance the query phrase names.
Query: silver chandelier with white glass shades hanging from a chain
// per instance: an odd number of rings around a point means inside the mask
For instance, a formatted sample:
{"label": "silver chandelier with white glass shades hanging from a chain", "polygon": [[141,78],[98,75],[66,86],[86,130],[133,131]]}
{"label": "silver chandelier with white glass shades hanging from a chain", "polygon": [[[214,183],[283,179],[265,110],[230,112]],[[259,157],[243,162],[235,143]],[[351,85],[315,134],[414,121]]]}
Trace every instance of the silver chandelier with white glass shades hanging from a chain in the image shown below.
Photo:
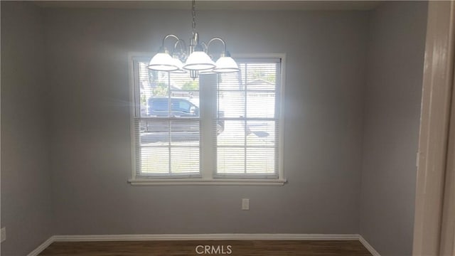
{"label": "silver chandelier with white glass shades hanging from a chain", "polygon": [[[230,57],[230,53],[226,50],[226,43],[222,38],[211,38],[208,43],[199,41],[199,33],[196,31],[196,1],[192,1],[191,11],[193,14],[193,33],[190,40],[190,45],[186,46],[185,41],[178,36],[168,34],[163,38],[161,47],[158,53],[151,58],[147,68],[157,71],[167,71],[169,73],[190,73],[190,77],[195,79],[198,75],[231,73],[238,72],[239,67],[235,60]],[[164,46],[164,42],[168,38],[175,39],[171,55],[168,49]],[[224,50],[220,54],[220,58],[213,61],[209,55],[210,45],[218,41],[223,43]]]}

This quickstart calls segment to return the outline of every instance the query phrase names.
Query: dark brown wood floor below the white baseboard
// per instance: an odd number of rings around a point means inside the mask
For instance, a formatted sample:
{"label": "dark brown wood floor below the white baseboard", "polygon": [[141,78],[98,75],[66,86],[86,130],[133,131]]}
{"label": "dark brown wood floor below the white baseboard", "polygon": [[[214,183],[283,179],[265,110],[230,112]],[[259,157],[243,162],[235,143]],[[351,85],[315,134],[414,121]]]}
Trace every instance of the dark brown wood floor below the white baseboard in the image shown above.
{"label": "dark brown wood floor below the white baseboard", "polygon": [[[207,249],[207,250],[205,250]],[[210,253],[207,253],[210,252]],[[230,253],[229,253],[230,252]],[[53,242],[40,256],[371,256],[359,241],[121,241]]]}

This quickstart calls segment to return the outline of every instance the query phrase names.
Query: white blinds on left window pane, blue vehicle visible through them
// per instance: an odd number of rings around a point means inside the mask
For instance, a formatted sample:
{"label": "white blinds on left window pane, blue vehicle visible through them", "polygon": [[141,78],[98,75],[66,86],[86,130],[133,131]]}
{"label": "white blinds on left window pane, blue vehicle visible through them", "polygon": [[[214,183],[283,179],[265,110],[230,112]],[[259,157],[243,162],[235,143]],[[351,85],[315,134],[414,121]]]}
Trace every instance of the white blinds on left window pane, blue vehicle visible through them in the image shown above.
{"label": "white blinds on left window pane, blue vehicle visible through them", "polygon": [[198,80],[151,71],[148,62],[134,60],[137,177],[200,176]]}

